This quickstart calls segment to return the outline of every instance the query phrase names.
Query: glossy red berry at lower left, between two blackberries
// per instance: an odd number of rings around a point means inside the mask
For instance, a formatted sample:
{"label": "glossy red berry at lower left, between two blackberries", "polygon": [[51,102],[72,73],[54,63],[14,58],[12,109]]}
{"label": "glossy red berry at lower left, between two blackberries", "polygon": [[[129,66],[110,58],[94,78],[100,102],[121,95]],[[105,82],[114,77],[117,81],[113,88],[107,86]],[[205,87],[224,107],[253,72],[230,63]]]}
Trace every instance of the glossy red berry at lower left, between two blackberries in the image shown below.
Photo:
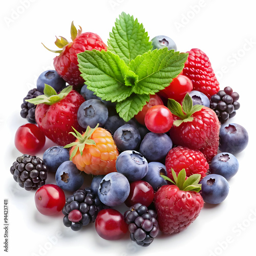
{"label": "glossy red berry at lower left, between two blackberries", "polygon": [[43,215],[55,215],[66,203],[64,191],[55,184],[41,186],[35,193],[35,206]]}

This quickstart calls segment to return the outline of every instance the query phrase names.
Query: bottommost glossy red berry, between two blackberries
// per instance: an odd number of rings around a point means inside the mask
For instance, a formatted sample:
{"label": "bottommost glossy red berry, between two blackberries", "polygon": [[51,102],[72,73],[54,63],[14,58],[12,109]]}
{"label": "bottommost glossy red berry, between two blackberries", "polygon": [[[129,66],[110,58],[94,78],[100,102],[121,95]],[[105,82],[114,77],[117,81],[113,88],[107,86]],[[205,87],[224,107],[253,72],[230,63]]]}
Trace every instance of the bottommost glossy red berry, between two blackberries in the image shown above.
{"label": "bottommost glossy red berry, between two blackberries", "polygon": [[99,236],[106,240],[118,240],[128,231],[123,215],[115,209],[99,211],[95,220],[95,229]]}

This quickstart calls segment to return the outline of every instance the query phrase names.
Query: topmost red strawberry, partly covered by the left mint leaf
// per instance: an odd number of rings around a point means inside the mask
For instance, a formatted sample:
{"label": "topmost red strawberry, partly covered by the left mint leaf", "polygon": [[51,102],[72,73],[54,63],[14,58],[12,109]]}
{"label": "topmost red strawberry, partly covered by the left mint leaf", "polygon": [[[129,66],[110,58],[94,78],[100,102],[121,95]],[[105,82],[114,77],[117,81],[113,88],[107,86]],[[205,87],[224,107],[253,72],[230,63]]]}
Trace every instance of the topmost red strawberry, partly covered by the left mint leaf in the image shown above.
{"label": "topmost red strawberry, partly covered by the left mint leaf", "polygon": [[85,50],[96,49],[101,51],[106,50],[106,45],[102,41],[99,35],[86,32],[82,33],[82,29],[79,26],[79,30],[75,28],[73,22],[71,24],[71,39],[69,42],[66,38],[60,37],[56,39],[55,45],[62,50],[49,50],[59,53],[53,60],[53,65],[57,73],[71,86],[74,90],[79,91],[84,84],[83,78],[80,76],[80,71],[78,70],[78,60],[77,54],[84,52]]}

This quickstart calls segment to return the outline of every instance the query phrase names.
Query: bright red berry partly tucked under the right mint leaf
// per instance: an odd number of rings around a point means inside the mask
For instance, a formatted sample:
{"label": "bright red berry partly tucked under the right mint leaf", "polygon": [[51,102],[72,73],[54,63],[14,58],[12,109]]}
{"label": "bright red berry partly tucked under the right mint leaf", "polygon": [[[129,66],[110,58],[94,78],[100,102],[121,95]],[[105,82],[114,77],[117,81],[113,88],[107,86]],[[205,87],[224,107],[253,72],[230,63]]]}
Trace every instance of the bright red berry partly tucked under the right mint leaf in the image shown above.
{"label": "bright red berry partly tucked under the right mint leaf", "polygon": [[159,95],[167,99],[175,99],[181,103],[185,95],[190,93],[192,90],[192,81],[186,76],[178,75],[173,79],[168,87],[159,92]]}

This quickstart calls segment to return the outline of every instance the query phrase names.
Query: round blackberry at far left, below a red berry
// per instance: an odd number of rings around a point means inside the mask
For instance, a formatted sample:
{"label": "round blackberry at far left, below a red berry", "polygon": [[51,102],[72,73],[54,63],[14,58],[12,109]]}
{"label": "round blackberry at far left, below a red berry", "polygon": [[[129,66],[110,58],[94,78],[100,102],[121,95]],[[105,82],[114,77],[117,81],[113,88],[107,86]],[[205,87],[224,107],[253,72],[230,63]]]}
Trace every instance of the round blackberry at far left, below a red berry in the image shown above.
{"label": "round blackberry at far left, below a red berry", "polygon": [[31,190],[45,185],[48,167],[40,158],[24,154],[12,164],[10,172],[19,186]]}

